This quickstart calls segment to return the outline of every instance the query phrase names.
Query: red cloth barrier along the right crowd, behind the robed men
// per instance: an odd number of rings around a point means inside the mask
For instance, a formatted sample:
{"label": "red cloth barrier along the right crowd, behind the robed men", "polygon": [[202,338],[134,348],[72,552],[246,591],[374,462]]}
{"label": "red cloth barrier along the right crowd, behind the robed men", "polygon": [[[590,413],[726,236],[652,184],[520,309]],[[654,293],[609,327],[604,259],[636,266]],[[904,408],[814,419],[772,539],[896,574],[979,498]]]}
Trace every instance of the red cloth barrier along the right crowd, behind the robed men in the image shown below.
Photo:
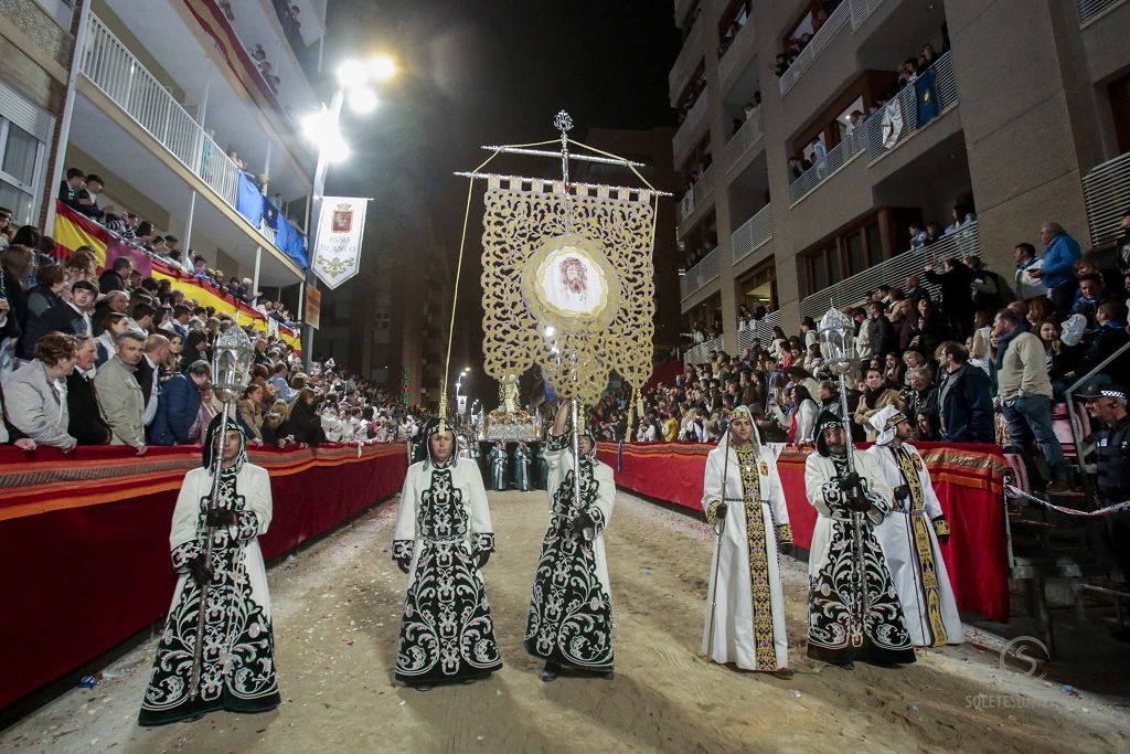
{"label": "red cloth barrier along the right crowd, behind the robed men", "polygon": [[[600,460],[616,469],[616,484],[649,497],[702,510],[703,474],[713,445],[602,442]],[[993,621],[1008,621],[1008,543],[1005,528],[1003,474],[1007,465],[996,445],[916,443],[933,479],[953,537],[941,553],[957,605]],[[805,458],[811,447],[786,447],[777,461],[789,519],[797,545],[808,548],[816,509],[805,494]]]}

